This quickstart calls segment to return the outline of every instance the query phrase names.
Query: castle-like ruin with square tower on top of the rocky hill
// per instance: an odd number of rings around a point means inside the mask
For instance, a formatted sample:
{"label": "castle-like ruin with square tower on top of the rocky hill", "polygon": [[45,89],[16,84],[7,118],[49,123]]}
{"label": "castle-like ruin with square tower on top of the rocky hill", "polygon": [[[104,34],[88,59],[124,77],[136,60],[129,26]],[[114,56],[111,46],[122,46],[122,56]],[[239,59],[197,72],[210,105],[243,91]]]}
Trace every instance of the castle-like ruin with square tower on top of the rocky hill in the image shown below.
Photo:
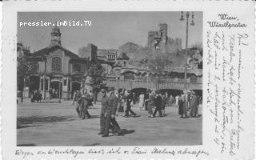
{"label": "castle-like ruin with square tower on top of the rocky hill", "polygon": [[167,28],[166,23],[160,23],[158,31],[148,32],[147,46],[150,47],[150,50],[159,53],[174,53],[182,50],[182,39],[168,37]]}

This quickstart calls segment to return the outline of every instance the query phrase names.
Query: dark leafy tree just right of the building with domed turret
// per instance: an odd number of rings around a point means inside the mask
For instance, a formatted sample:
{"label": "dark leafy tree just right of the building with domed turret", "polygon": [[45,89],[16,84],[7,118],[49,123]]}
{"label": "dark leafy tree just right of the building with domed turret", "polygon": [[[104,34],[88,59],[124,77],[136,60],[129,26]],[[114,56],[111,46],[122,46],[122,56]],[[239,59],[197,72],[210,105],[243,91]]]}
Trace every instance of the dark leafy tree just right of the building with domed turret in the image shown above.
{"label": "dark leafy tree just right of the building with domed turret", "polygon": [[90,76],[90,86],[93,87],[93,93],[94,93],[94,103],[97,101],[98,92],[102,89],[102,87],[105,86],[103,84],[104,80],[106,79],[106,74],[104,72],[104,69],[102,65],[100,64],[92,64],[89,69]]}

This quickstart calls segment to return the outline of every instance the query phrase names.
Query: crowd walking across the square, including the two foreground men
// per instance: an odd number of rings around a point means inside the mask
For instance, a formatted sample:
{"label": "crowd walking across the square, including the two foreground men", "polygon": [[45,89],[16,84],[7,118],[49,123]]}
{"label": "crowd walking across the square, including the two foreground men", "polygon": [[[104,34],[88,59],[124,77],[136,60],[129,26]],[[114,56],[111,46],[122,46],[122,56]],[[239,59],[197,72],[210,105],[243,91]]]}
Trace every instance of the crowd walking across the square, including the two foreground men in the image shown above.
{"label": "crowd walking across the square, including the two foreground men", "polygon": [[[114,88],[102,89],[101,94],[102,107],[100,112],[100,132],[98,134],[102,134],[102,137],[109,136],[109,130],[112,130],[112,133],[122,134],[115,116],[123,115],[125,118],[130,116],[136,117],[137,114],[131,108],[137,102],[140,110],[147,110],[148,118],[154,118],[157,113],[159,117],[165,116],[166,106],[170,104],[178,106],[178,114],[181,115],[181,118],[198,117],[200,98],[194,91],[187,94],[182,92],[175,98],[172,95],[168,96],[167,93],[151,90],[147,90],[146,93],[142,92],[138,97],[131,90],[121,90],[118,92]],[[87,93],[87,90],[82,88],[82,90],[74,92],[73,104],[77,102],[76,111],[79,118],[91,117],[88,109],[93,106],[93,98],[94,94],[92,94],[91,90],[90,93]]]}

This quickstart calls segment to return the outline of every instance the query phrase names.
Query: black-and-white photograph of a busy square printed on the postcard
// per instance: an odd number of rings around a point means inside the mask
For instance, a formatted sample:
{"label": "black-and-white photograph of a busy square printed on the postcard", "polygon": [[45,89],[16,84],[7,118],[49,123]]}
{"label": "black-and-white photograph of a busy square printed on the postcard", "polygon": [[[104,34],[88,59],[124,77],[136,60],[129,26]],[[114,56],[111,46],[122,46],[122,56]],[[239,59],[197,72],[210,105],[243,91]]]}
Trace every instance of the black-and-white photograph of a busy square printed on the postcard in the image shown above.
{"label": "black-and-white photograph of a busy square printed on the postcard", "polygon": [[202,145],[202,18],[18,12],[16,145]]}

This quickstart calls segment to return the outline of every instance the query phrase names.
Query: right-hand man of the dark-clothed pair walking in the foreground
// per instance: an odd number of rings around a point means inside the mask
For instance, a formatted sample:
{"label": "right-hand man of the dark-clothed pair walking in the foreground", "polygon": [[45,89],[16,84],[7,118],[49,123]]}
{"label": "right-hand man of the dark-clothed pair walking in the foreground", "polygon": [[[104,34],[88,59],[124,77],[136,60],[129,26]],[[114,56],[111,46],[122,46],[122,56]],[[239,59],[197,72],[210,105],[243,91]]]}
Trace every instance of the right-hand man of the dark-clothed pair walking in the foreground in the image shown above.
{"label": "right-hand man of the dark-clothed pair walking in the foreground", "polygon": [[118,122],[115,119],[115,114],[116,114],[116,111],[118,110],[118,98],[114,94],[114,88],[110,88],[109,91],[110,91],[110,97],[108,99],[108,105],[106,107],[106,113],[105,113],[106,126],[105,126],[104,135],[102,135],[102,137],[109,136],[109,130],[111,126],[110,122],[114,126],[114,131],[120,134],[120,126],[118,125]]}

